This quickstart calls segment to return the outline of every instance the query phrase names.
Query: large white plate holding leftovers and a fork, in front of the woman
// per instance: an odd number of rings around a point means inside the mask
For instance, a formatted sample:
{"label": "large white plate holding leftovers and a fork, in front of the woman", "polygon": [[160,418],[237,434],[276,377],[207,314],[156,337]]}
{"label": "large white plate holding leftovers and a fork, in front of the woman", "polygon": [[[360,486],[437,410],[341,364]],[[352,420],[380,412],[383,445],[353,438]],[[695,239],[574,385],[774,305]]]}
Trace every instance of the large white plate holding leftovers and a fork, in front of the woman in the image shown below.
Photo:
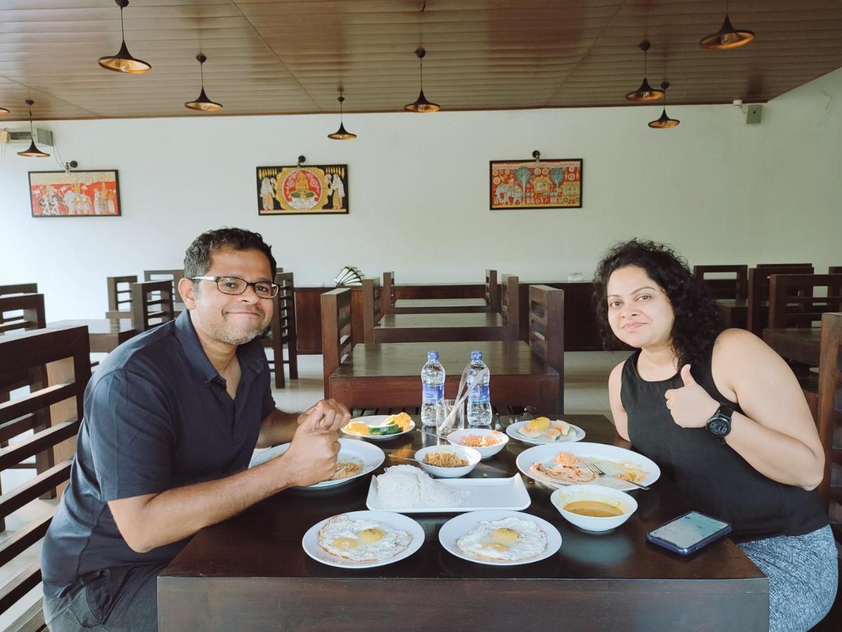
{"label": "large white plate holding leftovers and a fork, in front of the woman", "polygon": [[[579,458],[587,458],[589,461],[593,461],[606,474],[620,474],[624,470],[618,463],[628,463],[646,472],[646,477],[640,481],[641,485],[652,485],[661,476],[661,469],[658,468],[658,465],[652,459],[646,458],[642,454],[632,452],[631,450],[626,450],[625,447],[608,446],[604,443],[582,442],[568,443],[561,446],[553,443],[530,447],[518,455],[515,463],[518,469],[530,479],[538,480],[551,487],[565,487],[566,485],[559,481],[551,482],[536,478],[535,474],[531,474],[529,471],[532,464],[537,461],[552,467],[554,465],[552,458],[560,452],[569,452]],[[610,487],[621,491],[637,490],[637,487],[634,485],[629,485],[626,481],[615,479],[613,476],[600,476],[599,479],[594,480],[592,483],[585,483],[584,485],[602,485],[603,487]]]}

